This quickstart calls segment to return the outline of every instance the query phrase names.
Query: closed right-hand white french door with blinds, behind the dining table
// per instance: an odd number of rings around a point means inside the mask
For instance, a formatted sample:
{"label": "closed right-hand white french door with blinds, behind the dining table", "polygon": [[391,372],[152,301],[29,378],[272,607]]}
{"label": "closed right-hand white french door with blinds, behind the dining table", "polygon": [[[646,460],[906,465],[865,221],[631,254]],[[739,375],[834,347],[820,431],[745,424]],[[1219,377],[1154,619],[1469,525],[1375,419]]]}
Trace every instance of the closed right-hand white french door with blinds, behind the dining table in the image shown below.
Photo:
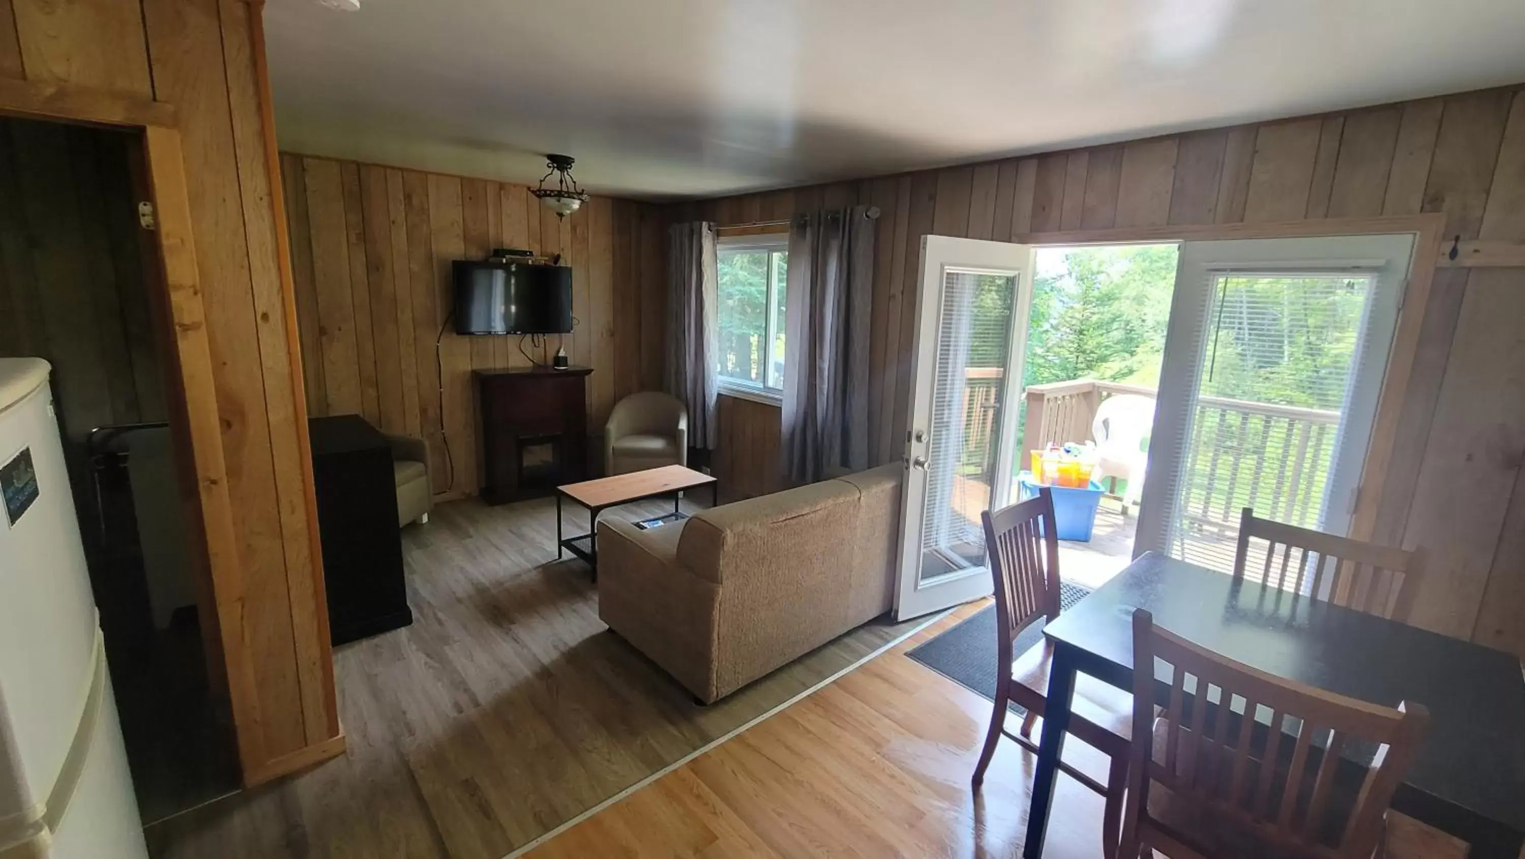
{"label": "closed right-hand white french door with blinds, behind the dining table", "polygon": [[1232,572],[1246,507],[1348,531],[1412,250],[1411,235],[1180,246],[1135,555]]}

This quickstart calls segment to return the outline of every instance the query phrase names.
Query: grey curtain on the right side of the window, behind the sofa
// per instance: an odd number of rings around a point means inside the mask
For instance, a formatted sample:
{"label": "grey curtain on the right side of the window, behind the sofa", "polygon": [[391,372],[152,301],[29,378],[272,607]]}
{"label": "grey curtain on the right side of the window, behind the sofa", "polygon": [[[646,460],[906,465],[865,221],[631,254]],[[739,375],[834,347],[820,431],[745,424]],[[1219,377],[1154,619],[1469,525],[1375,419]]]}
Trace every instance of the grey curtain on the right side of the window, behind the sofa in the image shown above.
{"label": "grey curtain on the right side of the window, behind the sofa", "polygon": [[791,482],[868,468],[872,293],[869,206],[795,218],[788,232],[782,415],[784,471]]}

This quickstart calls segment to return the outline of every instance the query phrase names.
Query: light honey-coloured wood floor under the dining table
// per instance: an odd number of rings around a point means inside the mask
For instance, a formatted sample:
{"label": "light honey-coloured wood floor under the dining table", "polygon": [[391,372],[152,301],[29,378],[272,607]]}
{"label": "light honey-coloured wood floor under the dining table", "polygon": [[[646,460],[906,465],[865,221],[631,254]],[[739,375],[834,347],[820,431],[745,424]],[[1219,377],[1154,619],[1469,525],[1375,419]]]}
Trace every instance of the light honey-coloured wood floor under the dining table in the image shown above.
{"label": "light honey-coloured wood floor under the dining table", "polygon": [[[964,606],[788,709],[547,838],[528,859],[586,856],[1020,856],[1035,758],[1002,740],[978,793],[991,702],[906,651]],[[1017,720],[1011,720],[1016,729]],[[1078,740],[1066,760],[1104,777]],[[1101,798],[1060,777],[1045,859],[1101,857]],[[1389,859],[1466,845],[1389,815]],[[1525,856],[1522,856],[1525,859]]]}

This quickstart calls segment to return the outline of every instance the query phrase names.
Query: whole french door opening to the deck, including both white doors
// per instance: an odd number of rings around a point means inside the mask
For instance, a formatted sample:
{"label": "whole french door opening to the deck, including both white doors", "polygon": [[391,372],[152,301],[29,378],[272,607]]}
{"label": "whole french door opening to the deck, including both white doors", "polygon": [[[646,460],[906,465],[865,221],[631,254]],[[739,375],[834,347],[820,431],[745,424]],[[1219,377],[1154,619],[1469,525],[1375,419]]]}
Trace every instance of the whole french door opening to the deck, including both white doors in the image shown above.
{"label": "whole french door opening to the deck, including both white doors", "polygon": [[[1231,572],[1243,508],[1344,536],[1414,247],[926,236],[897,618],[987,595],[981,513],[1040,485],[1084,587],[1145,551]],[[1064,446],[1089,482],[1034,467]]]}

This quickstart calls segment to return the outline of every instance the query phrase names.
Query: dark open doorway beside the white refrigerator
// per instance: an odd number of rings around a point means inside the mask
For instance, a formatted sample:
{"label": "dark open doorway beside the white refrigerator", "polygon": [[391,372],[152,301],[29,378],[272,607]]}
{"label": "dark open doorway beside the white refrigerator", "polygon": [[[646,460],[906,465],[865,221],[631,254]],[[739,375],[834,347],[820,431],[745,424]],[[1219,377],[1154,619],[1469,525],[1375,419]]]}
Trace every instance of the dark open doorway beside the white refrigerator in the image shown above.
{"label": "dark open doorway beside the white refrigerator", "polygon": [[[0,357],[52,365],[145,822],[239,786],[142,134],[0,119]],[[194,497],[194,493],[192,496]]]}

